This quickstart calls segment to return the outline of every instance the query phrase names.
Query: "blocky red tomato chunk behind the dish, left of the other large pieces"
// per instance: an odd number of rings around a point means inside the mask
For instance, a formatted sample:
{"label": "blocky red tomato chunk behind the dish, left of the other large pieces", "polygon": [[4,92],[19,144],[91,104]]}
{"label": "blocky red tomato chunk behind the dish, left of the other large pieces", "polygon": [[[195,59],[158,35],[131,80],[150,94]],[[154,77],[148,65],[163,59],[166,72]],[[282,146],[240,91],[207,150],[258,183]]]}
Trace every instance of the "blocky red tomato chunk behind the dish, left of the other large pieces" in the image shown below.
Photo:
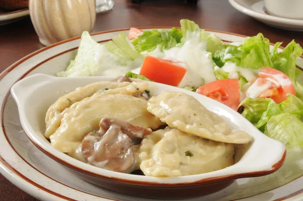
{"label": "blocky red tomato chunk behind the dish, left of the other large pieces", "polygon": [[186,69],[176,65],[170,60],[146,56],[141,66],[140,75],[150,80],[178,86],[186,73]]}

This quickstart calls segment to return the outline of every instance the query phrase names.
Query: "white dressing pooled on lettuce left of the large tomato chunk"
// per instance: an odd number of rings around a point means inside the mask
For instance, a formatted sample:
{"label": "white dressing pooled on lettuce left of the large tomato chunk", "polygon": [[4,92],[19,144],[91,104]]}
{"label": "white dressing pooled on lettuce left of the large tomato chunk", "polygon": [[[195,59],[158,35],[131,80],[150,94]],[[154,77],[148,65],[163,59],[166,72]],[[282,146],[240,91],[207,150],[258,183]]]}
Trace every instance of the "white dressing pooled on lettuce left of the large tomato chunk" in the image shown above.
{"label": "white dressing pooled on lettuce left of the large tomato chunk", "polygon": [[128,71],[140,67],[143,63],[142,59],[136,59],[134,61],[126,61],[126,65],[124,65],[125,63],[123,64],[119,57],[108,51],[105,45],[100,45],[95,60],[99,63],[95,76],[124,75]]}

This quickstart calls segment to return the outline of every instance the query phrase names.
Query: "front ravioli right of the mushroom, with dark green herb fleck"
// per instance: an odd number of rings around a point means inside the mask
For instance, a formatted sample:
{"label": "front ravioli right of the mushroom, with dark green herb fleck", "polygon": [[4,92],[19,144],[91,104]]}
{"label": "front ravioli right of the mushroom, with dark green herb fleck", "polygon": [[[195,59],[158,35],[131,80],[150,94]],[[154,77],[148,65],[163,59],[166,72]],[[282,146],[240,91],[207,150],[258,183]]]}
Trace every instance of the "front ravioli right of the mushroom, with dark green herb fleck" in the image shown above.
{"label": "front ravioli right of the mushroom, with dark green herb fleck", "polygon": [[140,169],[146,176],[201,174],[233,165],[234,145],[166,128],[147,135],[139,148]]}

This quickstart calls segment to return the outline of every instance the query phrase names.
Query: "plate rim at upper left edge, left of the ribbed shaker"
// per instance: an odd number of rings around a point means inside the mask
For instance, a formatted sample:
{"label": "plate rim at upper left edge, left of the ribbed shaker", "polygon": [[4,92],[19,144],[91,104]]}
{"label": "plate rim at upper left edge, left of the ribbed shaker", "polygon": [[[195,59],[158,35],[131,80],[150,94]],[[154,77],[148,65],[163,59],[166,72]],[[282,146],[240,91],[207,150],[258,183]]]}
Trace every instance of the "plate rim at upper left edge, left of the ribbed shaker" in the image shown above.
{"label": "plate rim at upper left edge, left of the ribbed shaker", "polygon": [[28,9],[18,11],[5,11],[0,10],[0,26],[16,22],[29,15]]}

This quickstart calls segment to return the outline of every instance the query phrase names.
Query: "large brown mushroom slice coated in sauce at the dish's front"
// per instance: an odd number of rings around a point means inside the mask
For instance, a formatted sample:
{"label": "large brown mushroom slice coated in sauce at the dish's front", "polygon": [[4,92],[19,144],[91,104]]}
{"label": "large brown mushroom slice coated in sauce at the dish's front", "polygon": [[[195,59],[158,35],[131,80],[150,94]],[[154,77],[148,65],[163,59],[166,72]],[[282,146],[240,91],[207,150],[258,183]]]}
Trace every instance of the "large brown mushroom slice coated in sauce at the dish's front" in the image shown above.
{"label": "large brown mushroom slice coated in sauce at the dish's front", "polygon": [[88,133],[82,140],[82,154],[93,166],[116,172],[131,173],[136,167],[133,144],[150,134],[150,128],[104,117],[100,130]]}

